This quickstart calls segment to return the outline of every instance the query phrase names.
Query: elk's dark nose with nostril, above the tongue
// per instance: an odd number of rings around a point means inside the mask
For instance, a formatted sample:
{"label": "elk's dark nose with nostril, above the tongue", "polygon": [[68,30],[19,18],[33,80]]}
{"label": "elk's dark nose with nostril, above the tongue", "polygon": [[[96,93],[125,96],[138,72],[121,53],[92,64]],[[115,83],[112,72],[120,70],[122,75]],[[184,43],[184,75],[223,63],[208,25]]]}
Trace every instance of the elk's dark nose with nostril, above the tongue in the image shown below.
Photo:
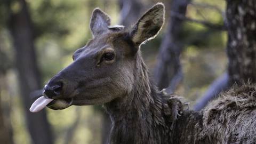
{"label": "elk's dark nose with nostril, above the tongue", "polygon": [[62,90],[62,84],[61,83],[55,84],[55,85],[52,85],[52,86],[45,85],[43,93],[48,98],[54,98],[54,97],[57,97],[57,96],[60,95],[61,90]]}

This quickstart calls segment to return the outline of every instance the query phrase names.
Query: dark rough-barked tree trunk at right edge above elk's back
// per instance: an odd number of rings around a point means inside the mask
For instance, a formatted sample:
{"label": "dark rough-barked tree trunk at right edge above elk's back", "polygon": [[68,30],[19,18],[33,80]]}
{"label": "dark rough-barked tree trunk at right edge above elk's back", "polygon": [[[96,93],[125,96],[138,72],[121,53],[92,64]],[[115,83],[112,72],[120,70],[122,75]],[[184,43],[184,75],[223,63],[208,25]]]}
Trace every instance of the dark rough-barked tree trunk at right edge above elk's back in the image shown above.
{"label": "dark rough-barked tree trunk at right edge above elk's back", "polygon": [[256,1],[227,0],[228,74],[231,84],[256,82]]}

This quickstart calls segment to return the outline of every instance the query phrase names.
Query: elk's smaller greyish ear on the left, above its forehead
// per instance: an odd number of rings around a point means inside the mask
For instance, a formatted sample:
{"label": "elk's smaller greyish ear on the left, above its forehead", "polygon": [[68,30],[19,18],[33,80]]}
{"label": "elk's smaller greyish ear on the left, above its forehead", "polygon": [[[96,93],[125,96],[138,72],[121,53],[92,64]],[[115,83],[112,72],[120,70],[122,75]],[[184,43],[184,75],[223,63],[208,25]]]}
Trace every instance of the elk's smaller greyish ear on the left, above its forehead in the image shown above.
{"label": "elk's smaller greyish ear on the left, above its forehead", "polygon": [[105,12],[101,11],[99,8],[94,9],[90,22],[90,29],[92,35],[95,37],[97,35],[107,33],[109,25],[109,16]]}

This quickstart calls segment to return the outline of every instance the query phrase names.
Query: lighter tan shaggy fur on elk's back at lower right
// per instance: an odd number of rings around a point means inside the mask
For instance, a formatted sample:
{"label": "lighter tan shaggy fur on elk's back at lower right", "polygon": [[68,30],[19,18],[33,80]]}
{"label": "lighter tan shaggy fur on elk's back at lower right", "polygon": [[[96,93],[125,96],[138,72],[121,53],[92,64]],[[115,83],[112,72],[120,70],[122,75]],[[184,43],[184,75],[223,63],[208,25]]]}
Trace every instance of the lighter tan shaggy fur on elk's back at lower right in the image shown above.
{"label": "lighter tan shaggy fur on elk's back at lower right", "polygon": [[203,113],[204,137],[213,143],[256,143],[256,86],[234,86]]}

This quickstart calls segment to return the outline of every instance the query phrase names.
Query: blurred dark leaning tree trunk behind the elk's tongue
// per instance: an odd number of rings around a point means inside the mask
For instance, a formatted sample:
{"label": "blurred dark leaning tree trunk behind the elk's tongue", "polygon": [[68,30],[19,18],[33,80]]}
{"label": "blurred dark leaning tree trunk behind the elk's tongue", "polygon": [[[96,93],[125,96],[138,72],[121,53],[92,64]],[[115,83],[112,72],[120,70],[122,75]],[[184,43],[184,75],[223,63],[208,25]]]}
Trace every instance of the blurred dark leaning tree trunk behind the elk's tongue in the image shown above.
{"label": "blurred dark leaning tree trunk behind the elk's tongue", "polygon": [[12,13],[10,9],[9,28],[14,42],[20,92],[27,126],[33,143],[51,144],[53,143],[53,137],[45,110],[36,114],[29,111],[29,107],[34,101],[29,97],[30,92],[41,88],[41,77],[34,47],[33,23],[25,0],[19,0],[18,2],[21,6],[18,12]]}

